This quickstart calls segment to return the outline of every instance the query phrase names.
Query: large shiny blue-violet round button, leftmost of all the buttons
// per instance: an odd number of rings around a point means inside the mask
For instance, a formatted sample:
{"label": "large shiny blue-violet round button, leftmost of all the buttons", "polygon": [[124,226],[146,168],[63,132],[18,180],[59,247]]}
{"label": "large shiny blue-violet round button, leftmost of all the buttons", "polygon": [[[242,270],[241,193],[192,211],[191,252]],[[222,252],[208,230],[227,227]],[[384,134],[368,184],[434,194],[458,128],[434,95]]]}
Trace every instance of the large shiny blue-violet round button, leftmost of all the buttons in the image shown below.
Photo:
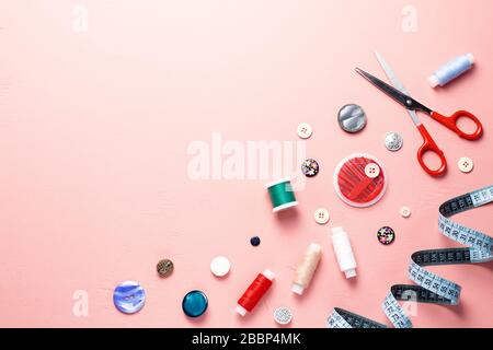
{"label": "large shiny blue-violet round button, leftmost of all the buttons", "polygon": [[139,312],[146,303],[146,291],[139,283],[125,281],[116,285],[113,292],[115,307],[124,314]]}

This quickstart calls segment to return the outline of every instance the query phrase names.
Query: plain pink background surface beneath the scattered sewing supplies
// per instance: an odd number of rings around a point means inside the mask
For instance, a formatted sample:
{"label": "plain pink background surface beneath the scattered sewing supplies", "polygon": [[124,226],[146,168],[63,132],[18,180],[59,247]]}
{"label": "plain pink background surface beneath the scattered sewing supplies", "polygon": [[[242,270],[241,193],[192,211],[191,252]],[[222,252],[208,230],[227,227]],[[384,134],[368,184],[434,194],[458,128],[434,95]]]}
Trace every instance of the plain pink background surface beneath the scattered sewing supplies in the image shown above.
{"label": "plain pink background surface beneath the scattered sewing supplies", "polygon": [[[334,306],[387,323],[380,304],[391,284],[408,283],[416,249],[456,246],[437,231],[440,202],[491,185],[493,171],[493,3],[413,0],[417,32],[404,33],[408,1],[5,1],[0,2],[0,325],[43,327],[274,327],[272,312],[288,306],[293,326],[324,327]],[[89,9],[89,32],[74,33],[72,9]],[[412,94],[445,114],[466,108],[483,121],[478,142],[460,140],[420,115],[446,152],[449,172],[426,175],[415,152],[421,137],[404,109],[354,73],[383,77],[378,48]],[[456,55],[477,67],[447,89],[426,78]],[[344,133],[336,112],[358,103],[366,129]],[[310,122],[308,155],[320,174],[298,192],[297,214],[271,213],[263,180],[187,177],[187,145],[225,140],[293,140]],[[398,131],[404,147],[382,147]],[[336,197],[332,173],[353,152],[376,155],[390,183],[383,199],[353,209]],[[470,156],[471,174],[457,168]],[[403,219],[399,208],[411,207]],[[331,212],[318,225],[318,207]],[[457,217],[493,232],[491,207]],[[349,233],[358,276],[341,275],[328,233]],[[376,231],[397,231],[391,246]],[[261,246],[249,238],[260,235]],[[317,276],[302,298],[289,291],[309,243],[323,247]],[[211,276],[213,257],[230,258],[230,275]],[[174,273],[154,266],[169,257]],[[255,312],[234,312],[255,275],[276,272]],[[416,327],[491,327],[492,265],[435,267],[462,285],[459,306],[419,305]],[[114,287],[137,280],[147,304],[126,316],[112,303]],[[183,295],[209,298],[204,317],[181,310]],[[76,317],[72,294],[89,293],[89,316]]]}

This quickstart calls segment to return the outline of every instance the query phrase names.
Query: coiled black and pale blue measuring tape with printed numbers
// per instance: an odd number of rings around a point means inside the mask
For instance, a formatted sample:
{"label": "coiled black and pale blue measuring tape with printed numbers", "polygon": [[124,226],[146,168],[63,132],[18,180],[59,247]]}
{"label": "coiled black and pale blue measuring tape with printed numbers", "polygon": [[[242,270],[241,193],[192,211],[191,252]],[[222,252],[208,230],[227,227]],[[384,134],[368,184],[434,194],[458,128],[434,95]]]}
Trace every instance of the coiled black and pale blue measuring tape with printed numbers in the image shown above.
{"label": "coiled black and pale blue measuring tape with printed numbers", "polygon": [[[382,310],[397,328],[411,328],[411,319],[398,301],[457,305],[460,285],[424,269],[432,265],[481,264],[493,260],[493,237],[451,221],[459,212],[493,202],[493,186],[447,200],[439,207],[438,231],[467,247],[420,250],[411,256],[409,278],[415,285],[395,284],[382,303]],[[329,328],[385,328],[386,325],[335,307]]]}

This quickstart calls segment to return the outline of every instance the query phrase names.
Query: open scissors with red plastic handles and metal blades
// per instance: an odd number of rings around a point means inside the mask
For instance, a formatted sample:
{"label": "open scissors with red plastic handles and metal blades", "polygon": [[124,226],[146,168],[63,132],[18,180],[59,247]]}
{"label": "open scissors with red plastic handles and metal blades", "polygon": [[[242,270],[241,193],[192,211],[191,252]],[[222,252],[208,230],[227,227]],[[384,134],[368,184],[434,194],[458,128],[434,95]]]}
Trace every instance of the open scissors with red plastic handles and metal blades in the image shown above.
{"label": "open scissors with red plastic handles and metal blades", "polygon": [[[387,95],[399,102],[408,109],[411,119],[413,120],[414,125],[416,126],[417,130],[420,130],[420,133],[423,137],[423,144],[417,150],[417,161],[420,162],[421,167],[423,167],[423,170],[432,176],[444,175],[447,170],[447,160],[445,159],[444,152],[438,148],[438,145],[429,135],[428,130],[426,130],[424,125],[417,118],[416,112],[420,110],[426,113],[433,119],[435,119],[446,128],[452,130],[462,139],[469,141],[479,139],[483,133],[483,126],[481,125],[481,121],[473,114],[467,110],[457,110],[451,116],[446,117],[422,105],[421,103],[409,96],[409,93],[405,90],[404,85],[399,81],[399,79],[397,78],[390,66],[387,65],[387,62],[383,60],[383,58],[377,51],[375,52],[375,55],[380,66],[382,67],[383,71],[386,72],[387,78],[392,83],[393,88],[359,68],[356,68],[356,72],[358,72],[363,78],[368,80],[371,84],[380,89],[382,92],[385,92]],[[460,118],[470,119],[475,125],[475,130],[472,133],[468,133],[461,130],[457,125],[457,121]],[[440,160],[440,165],[437,168],[431,168],[426,165],[423,159],[426,152],[432,152],[438,155]]]}

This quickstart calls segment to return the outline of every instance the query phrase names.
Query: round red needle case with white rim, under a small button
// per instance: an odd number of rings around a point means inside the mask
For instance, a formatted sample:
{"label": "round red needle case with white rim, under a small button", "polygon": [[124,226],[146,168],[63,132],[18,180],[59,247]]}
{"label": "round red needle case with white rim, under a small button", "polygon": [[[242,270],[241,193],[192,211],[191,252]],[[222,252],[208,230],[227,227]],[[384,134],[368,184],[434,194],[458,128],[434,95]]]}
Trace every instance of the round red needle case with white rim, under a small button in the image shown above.
{"label": "round red needle case with white rim, under a small button", "polygon": [[[366,165],[375,163],[380,173],[370,178],[365,174]],[[369,207],[383,196],[387,177],[381,164],[371,155],[353,154],[344,159],[334,173],[334,187],[339,197],[353,207]]]}

